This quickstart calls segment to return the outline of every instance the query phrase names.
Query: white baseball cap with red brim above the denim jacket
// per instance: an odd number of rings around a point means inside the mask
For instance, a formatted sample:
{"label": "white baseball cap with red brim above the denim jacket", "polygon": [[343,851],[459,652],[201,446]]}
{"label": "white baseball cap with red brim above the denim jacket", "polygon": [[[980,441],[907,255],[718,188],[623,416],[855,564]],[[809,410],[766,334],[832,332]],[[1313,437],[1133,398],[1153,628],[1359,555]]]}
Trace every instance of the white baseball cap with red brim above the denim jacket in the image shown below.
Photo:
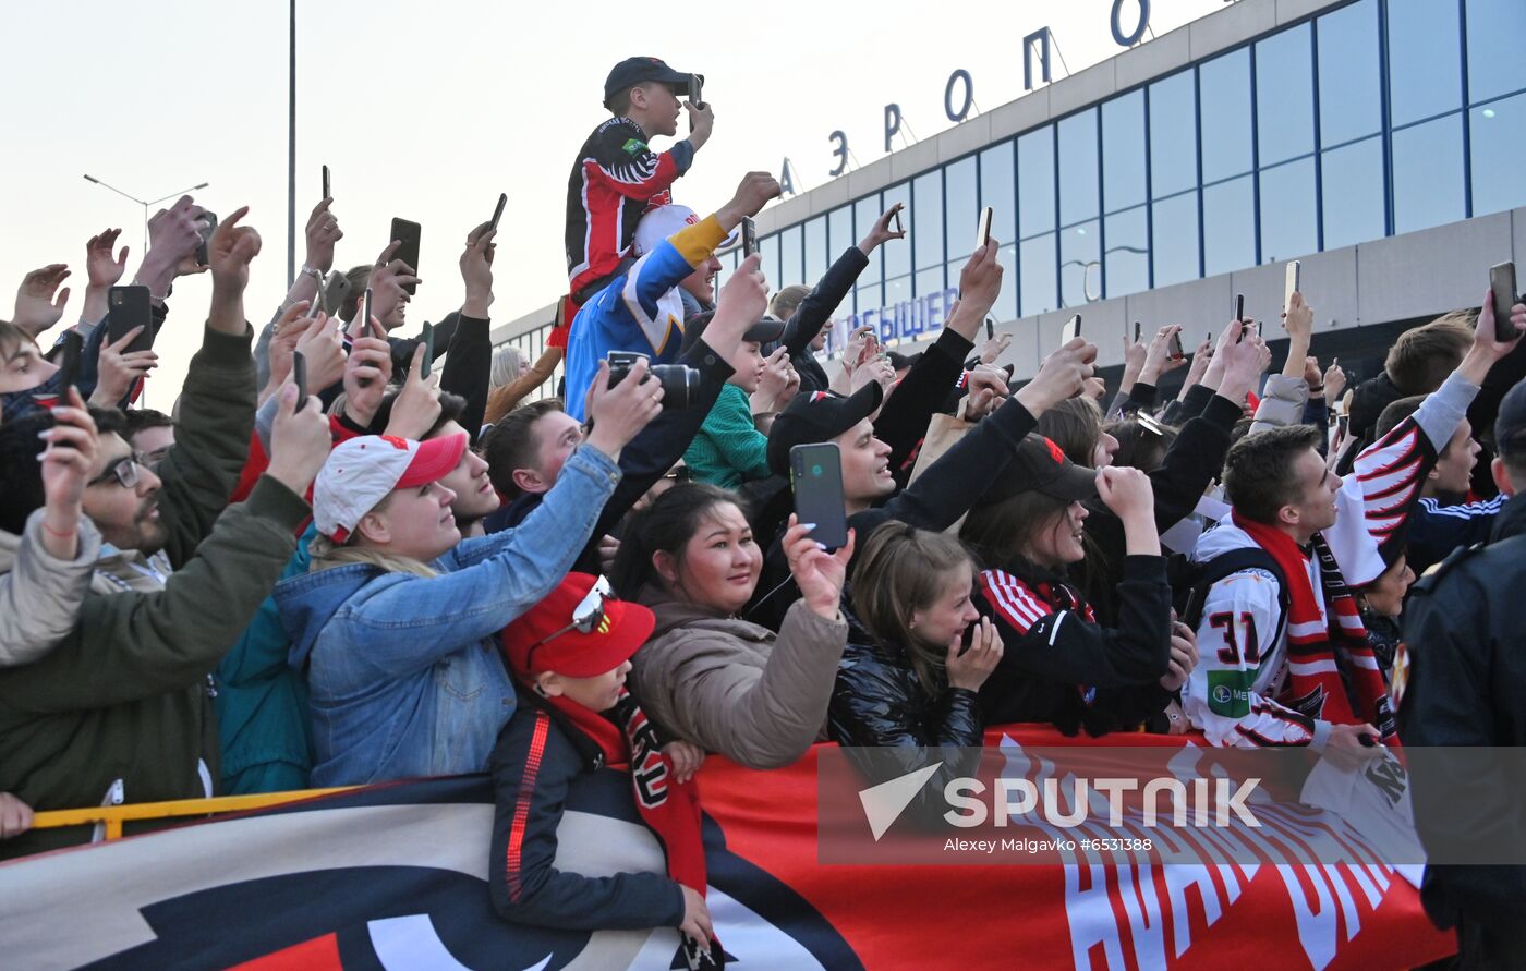
{"label": "white baseball cap with red brim above the denim jacket", "polygon": [[394,489],[438,482],[467,450],[467,434],[429,441],[362,435],[328,453],[313,484],[313,525],[336,544]]}

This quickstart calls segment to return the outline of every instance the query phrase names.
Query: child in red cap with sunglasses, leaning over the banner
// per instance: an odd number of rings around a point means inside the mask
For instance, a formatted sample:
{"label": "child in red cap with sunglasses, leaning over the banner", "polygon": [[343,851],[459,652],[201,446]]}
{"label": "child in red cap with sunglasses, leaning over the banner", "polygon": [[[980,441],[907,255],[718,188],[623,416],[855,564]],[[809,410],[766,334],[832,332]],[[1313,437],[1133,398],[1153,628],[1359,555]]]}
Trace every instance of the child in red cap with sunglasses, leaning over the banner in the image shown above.
{"label": "child in red cap with sunglasses, leaning over the banner", "polygon": [[[526,696],[488,760],[497,794],[493,907],[508,921],[569,930],[678,927],[691,966],[714,966],[722,953],[705,905],[693,783],[705,753],[664,745],[626,690],[630,655],[655,624],[647,608],[615,600],[603,577],[572,573],[504,629],[510,670]],[[630,773],[636,809],[667,852],[667,875],[555,869],[568,789],[606,765]]]}

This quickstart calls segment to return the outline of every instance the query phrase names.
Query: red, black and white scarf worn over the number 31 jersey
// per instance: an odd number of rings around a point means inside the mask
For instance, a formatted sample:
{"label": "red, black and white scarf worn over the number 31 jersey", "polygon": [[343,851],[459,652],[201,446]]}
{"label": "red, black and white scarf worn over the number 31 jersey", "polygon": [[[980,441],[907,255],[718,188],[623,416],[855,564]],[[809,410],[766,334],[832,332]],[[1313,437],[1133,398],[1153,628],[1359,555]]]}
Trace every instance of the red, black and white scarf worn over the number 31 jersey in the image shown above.
{"label": "red, black and white scarf worn over the number 31 jersey", "polygon": [[[1335,556],[1318,533],[1309,553],[1282,530],[1235,515],[1235,525],[1265,550],[1288,583],[1288,684],[1282,704],[1309,718],[1352,725],[1367,722],[1387,745],[1398,744],[1393,705],[1378,658],[1367,641],[1357,598],[1341,577]],[[1309,557],[1320,566],[1328,612],[1320,611],[1309,582]]]}

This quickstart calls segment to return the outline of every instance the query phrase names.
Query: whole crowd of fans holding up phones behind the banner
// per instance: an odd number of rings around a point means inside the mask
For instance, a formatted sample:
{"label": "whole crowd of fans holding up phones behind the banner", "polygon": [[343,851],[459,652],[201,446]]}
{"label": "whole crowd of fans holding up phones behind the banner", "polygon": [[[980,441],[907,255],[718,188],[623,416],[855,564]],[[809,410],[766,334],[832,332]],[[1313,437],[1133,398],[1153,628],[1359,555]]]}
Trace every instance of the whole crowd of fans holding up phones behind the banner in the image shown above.
{"label": "whole crowd of fans holding up phones behind the banner", "polygon": [[[1521,742],[1459,727],[1488,704],[1488,649],[1441,660],[1401,624],[1416,573],[1526,531],[1526,351],[1488,296],[1407,331],[1354,392],[1309,356],[1296,293],[1264,327],[1125,337],[1109,397],[1083,337],[1022,383],[996,366],[1010,334],[977,347],[992,240],[923,353],[861,328],[824,362],[856,276],[903,244],[894,209],[813,289],[769,299],[751,256],[717,293],[714,252],[780,186],[748,173],[705,217],[671,202],[714,124],[691,84],[652,58],[610,73],[569,182],[560,339],[536,362],[491,348],[490,224],[465,237],[430,369],[398,334],[420,282],[398,241],[337,272],[320,200],[253,328],[246,211],[208,237],[180,198],[136,273],[150,336],[180,340],[172,284],[211,273],[172,415],[134,408],[157,365],[139,330],[108,339],[119,231],[87,243],[67,328],[69,270],[26,276],[0,322],[0,856],[98,837],[34,811],[491,771],[499,913],[681,927],[703,962],[707,753],[769,769],[824,739],[978,747],[1015,721],[1349,766],[1401,730]],[[685,113],[687,139],[649,147]],[[1526,305],[1509,315],[1526,330]],[[63,331],[84,344],[67,385]],[[612,368],[620,351],[639,357]],[[565,388],[525,403],[563,354]],[[841,456],[835,550],[792,513],[790,449],[815,443]],[[629,768],[667,875],[555,869],[566,788],[600,765]]]}

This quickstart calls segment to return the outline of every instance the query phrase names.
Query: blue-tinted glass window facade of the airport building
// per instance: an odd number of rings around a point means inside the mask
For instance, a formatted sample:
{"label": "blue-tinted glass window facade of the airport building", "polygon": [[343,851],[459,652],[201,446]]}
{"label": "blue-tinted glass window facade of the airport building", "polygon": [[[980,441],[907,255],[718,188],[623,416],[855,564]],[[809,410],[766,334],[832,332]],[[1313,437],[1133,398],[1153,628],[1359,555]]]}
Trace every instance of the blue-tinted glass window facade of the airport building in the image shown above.
{"label": "blue-tinted glass window facade of the airport building", "polygon": [[1523,0],[1329,8],[772,234],[769,282],[896,202],[844,313],[957,287],[983,206],[1004,321],[1521,206],[1523,35]]}

